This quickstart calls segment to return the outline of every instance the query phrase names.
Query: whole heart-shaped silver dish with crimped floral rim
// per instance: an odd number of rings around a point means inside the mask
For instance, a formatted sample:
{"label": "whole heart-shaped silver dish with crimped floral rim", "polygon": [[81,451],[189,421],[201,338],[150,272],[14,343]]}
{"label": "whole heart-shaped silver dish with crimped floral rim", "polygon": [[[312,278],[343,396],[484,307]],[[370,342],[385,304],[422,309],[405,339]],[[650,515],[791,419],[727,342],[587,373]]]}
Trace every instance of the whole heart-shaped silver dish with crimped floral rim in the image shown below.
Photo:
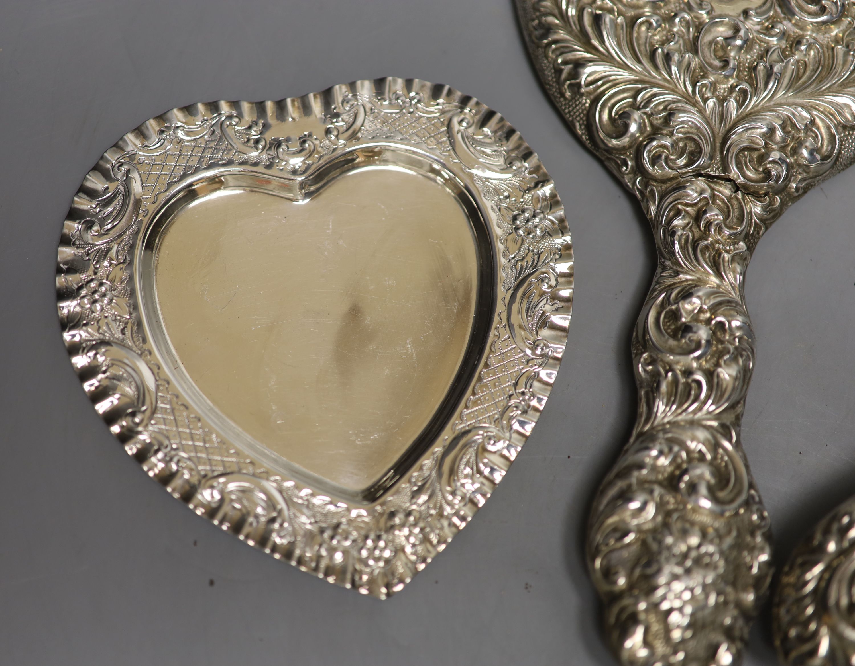
{"label": "whole heart-shaped silver dish with crimped floral rim", "polygon": [[145,122],[86,176],[58,262],[74,369],[146,473],[379,598],[516,458],[573,295],[537,156],[417,79]]}

